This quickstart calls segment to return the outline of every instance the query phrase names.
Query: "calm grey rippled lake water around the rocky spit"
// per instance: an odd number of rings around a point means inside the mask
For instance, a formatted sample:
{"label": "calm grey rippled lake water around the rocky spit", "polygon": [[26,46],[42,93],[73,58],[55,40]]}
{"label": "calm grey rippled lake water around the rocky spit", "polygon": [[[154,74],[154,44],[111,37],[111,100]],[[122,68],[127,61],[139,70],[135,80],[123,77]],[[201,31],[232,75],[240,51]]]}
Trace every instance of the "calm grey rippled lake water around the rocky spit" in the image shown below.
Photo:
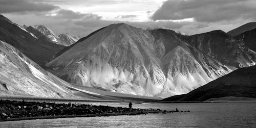
{"label": "calm grey rippled lake water around the rocky spit", "polygon": [[[126,104],[109,106],[127,107]],[[256,103],[135,104],[133,107],[191,112],[9,121],[0,122],[0,127],[256,127]]]}

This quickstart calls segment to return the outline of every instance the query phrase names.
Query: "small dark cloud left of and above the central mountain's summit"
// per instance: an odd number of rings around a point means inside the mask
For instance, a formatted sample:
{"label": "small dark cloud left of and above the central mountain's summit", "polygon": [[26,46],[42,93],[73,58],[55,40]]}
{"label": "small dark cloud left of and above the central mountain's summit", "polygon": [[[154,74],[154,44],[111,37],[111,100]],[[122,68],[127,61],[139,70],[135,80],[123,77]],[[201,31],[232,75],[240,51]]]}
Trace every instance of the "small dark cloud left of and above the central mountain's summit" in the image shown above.
{"label": "small dark cloud left of and above the central mountain's summit", "polygon": [[50,15],[49,17],[58,19],[70,19],[70,20],[99,20],[102,17],[91,13],[80,13],[71,10],[60,9],[55,12],[56,14]]}

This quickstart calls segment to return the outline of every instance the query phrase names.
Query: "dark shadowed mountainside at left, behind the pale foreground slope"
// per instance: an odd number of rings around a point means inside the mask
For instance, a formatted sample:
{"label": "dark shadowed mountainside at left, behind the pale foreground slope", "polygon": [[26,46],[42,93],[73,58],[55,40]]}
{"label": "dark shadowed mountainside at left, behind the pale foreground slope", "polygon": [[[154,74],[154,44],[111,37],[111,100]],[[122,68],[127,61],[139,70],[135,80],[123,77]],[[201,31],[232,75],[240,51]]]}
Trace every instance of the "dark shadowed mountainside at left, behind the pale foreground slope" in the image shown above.
{"label": "dark shadowed mountainside at left, behind the pale foreground slope", "polygon": [[39,65],[56,56],[64,46],[45,42],[0,15],[0,40],[11,44]]}

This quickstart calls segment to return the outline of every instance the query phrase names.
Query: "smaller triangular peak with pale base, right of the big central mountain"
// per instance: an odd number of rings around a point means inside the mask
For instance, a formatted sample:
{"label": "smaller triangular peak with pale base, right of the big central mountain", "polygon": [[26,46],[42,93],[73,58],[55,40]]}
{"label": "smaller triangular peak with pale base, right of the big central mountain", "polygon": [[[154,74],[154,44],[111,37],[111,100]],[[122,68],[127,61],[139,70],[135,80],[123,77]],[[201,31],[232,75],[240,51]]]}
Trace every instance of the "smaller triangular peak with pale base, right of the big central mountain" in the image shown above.
{"label": "smaller triangular peak with pale base, right of the big central mountain", "polygon": [[151,33],[155,37],[156,53],[161,58],[162,71],[167,78],[161,97],[189,92],[231,71],[182,41],[178,37],[180,34],[174,31],[159,29]]}

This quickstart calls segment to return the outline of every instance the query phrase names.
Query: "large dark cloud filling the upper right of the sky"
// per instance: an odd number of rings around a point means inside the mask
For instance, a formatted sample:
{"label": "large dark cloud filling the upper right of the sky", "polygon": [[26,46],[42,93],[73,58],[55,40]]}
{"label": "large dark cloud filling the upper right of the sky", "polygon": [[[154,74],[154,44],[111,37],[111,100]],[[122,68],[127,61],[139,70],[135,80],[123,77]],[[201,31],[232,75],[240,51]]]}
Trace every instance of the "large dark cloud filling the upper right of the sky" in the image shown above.
{"label": "large dark cloud filling the upper right of the sky", "polygon": [[168,0],[152,15],[153,20],[194,18],[199,22],[256,19],[254,0]]}

